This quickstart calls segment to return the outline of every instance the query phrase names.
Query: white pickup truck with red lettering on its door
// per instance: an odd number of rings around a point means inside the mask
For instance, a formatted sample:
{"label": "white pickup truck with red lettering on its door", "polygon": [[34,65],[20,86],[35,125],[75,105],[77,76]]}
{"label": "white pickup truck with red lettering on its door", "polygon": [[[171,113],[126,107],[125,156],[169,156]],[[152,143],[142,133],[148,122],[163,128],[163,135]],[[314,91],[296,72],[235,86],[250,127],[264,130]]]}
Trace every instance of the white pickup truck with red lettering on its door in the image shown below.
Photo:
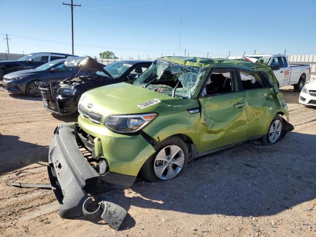
{"label": "white pickup truck with red lettering on its door", "polygon": [[280,87],[294,85],[294,90],[301,91],[311,76],[310,65],[290,65],[282,54],[253,54],[244,56],[244,59],[270,66]]}

